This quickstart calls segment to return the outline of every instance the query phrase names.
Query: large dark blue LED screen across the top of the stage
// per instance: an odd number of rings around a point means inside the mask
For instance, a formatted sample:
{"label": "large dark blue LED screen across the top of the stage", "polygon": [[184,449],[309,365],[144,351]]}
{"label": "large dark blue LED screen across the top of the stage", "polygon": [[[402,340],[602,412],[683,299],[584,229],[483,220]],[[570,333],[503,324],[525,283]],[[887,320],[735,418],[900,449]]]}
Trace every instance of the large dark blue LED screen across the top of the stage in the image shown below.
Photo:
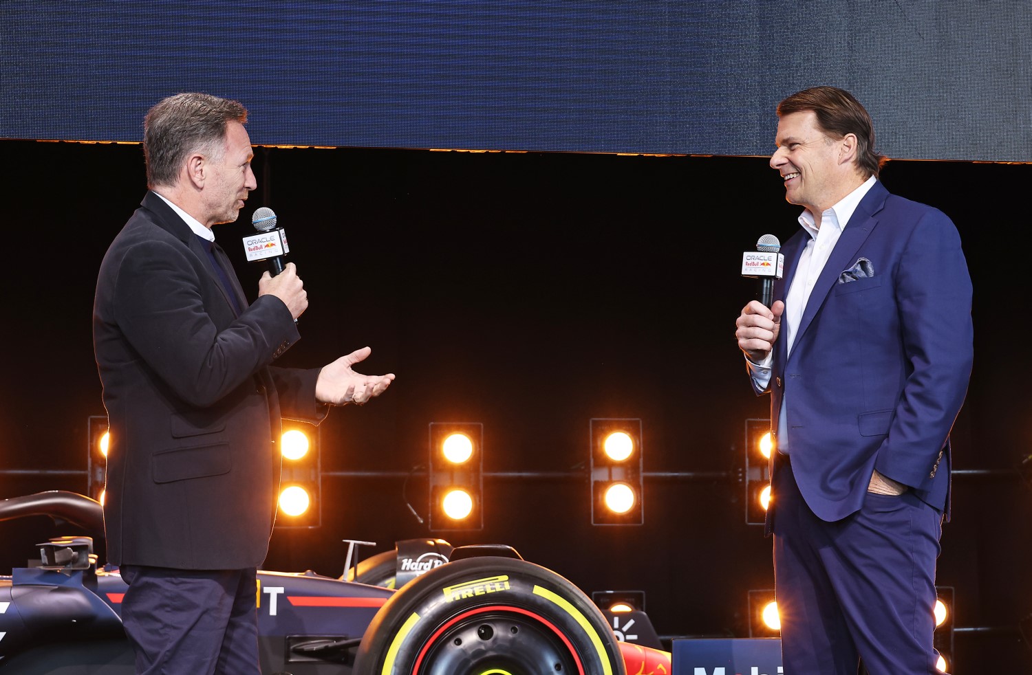
{"label": "large dark blue LED screen across the top of the stage", "polygon": [[1032,161],[1032,11],[941,2],[4,2],[0,138],[138,141],[235,98],[252,140],[766,155],[774,106],[852,91],[899,159]]}

